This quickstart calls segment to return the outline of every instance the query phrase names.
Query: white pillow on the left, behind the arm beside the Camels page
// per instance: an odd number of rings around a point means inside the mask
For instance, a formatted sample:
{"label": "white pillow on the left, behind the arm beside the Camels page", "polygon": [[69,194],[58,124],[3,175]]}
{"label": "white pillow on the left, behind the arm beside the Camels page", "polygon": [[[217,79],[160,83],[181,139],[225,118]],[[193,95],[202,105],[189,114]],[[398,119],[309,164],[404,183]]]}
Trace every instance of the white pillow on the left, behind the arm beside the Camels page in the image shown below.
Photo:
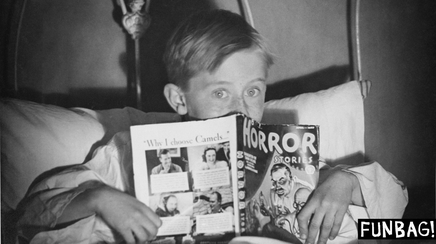
{"label": "white pillow on the left, behind the arm beside the Camels page", "polygon": [[94,111],[17,99],[0,103],[2,204],[15,208],[37,176],[59,166],[83,163],[98,146],[130,125],[178,122],[174,113],[135,108]]}

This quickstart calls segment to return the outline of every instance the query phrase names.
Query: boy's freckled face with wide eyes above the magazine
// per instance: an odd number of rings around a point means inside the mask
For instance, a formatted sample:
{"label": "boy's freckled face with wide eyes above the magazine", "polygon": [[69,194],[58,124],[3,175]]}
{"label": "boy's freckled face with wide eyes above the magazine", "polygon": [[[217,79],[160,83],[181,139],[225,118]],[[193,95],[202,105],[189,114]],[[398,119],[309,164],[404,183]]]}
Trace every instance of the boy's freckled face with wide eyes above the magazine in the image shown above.
{"label": "boy's freckled face with wide eyes above the magazine", "polygon": [[230,55],[210,74],[202,72],[184,92],[187,114],[209,119],[241,112],[259,121],[265,102],[267,68],[260,49],[245,49]]}

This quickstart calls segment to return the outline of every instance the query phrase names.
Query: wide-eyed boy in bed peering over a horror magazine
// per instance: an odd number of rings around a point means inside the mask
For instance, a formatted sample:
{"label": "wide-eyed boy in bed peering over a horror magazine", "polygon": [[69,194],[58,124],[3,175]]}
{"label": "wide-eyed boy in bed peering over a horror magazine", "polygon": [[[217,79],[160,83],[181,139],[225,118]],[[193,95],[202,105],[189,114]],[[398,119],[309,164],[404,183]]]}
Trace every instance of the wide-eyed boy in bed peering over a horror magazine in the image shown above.
{"label": "wide-eyed boy in bed peering over a horror magazine", "polygon": [[[171,83],[164,95],[178,114],[191,120],[242,112],[261,121],[272,56],[241,16],[224,10],[195,14],[168,43],[164,61]],[[129,132],[120,132],[88,163],[35,186],[22,202],[20,237],[41,243],[153,240],[161,221],[132,197],[131,157]],[[334,239],[350,203],[364,206],[358,178],[333,170],[297,217],[300,237],[313,244],[320,231],[318,243]]]}

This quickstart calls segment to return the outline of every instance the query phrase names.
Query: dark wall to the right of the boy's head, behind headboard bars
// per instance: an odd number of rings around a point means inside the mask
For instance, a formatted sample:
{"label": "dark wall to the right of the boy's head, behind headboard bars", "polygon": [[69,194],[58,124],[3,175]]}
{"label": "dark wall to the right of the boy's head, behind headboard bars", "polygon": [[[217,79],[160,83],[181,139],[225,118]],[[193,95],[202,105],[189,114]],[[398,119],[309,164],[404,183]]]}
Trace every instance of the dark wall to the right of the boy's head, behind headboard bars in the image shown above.
{"label": "dark wall to the right of the boy's head, behind headboard bars", "polygon": [[[346,13],[351,1],[252,3],[255,27],[278,53],[267,99],[316,91],[350,77]],[[360,1],[361,75],[372,81],[364,100],[365,160],[378,161],[406,184],[406,218],[435,217],[435,4]]]}

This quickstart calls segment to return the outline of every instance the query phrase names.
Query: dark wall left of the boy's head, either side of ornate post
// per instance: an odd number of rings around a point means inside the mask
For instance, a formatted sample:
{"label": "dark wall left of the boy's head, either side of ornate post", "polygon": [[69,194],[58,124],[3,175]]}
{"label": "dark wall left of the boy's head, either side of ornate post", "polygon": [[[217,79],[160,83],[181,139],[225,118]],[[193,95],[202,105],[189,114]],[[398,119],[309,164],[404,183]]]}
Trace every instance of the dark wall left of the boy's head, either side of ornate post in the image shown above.
{"label": "dark wall left of the boy's head, either side of ornate post", "polygon": [[[63,107],[136,106],[134,41],[121,26],[116,0],[1,4],[3,96]],[[166,41],[184,17],[211,8],[239,11],[236,0],[151,1],[152,22],[140,39],[144,111],[172,112],[162,94]]]}

